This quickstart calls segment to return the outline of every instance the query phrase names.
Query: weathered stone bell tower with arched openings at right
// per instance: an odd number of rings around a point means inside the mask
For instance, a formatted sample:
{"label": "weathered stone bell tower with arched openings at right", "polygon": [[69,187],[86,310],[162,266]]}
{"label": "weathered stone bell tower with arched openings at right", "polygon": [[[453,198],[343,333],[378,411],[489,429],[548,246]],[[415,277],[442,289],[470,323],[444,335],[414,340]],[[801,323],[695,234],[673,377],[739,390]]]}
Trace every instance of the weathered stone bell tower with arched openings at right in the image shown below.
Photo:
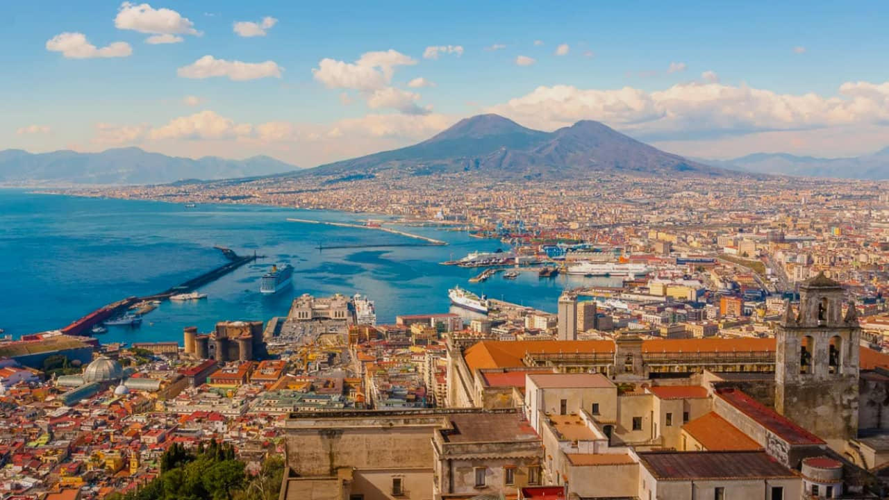
{"label": "weathered stone bell tower with arched openings at right", "polygon": [[822,272],[800,286],[775,331],[775,409],[829,443],[858,433],[861,328],[845,291]]}

